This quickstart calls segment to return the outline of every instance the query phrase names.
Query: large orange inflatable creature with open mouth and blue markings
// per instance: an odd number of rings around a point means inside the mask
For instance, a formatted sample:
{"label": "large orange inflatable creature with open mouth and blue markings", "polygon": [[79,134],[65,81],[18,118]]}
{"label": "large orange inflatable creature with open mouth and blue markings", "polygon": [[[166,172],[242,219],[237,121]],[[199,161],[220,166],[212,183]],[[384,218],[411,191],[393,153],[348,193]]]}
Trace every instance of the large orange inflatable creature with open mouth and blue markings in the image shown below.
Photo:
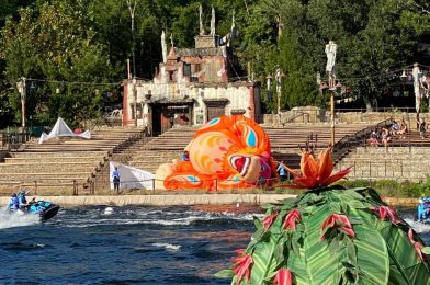
{"label": "large orange inflatable creature with open mouth and blue markings", "polygon": [[[268,135],[241,115],[217,117],[186,146],[189,161],[162,164],[156,173],[163,189],[246,189],[274,176]],[[161,186],[158,184],[158,186]]]}

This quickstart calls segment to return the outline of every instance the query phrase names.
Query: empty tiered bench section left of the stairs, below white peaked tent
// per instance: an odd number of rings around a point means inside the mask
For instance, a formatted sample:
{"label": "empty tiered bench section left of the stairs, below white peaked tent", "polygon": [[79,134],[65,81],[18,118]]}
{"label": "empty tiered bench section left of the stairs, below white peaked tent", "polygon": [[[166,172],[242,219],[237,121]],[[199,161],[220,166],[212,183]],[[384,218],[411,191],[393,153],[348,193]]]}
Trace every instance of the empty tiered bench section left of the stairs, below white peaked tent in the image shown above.
{"label": "empty tiered bench section left of the stairs, below white peaked tent", "polygon": [[26,144],[0,163],[0,192],[11,193],[19,187],[42,194],[91,191],[93,178],[110,156],[140,134],[133,128],[102,128],[89,140],[54,138],[42,145]]}

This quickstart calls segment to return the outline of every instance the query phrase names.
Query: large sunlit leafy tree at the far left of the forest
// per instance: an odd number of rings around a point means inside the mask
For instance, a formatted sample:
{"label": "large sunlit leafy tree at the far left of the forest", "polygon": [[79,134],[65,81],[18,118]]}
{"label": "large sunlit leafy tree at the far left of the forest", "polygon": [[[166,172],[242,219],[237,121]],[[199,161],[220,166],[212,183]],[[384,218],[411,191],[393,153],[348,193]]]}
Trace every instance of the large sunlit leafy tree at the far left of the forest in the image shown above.
{"label": "large sunlit leafy tree at the far left of the forest", "polygon": [[[23,9],[19,21],[7,21],[1,55],[8,81],[14,86],[20,77],[43,79],[33,82],[37,87],[27,100],[27,114],[35,122],[53,123],[60,115],[77,123],[100,112],[100,95],[93,100],[95,88],[88,82],[108,82],[112,68],[86,14],[79,3],[55,1],[44,3],[37,13]],[[10,101],[18,114],[18,93]]]}

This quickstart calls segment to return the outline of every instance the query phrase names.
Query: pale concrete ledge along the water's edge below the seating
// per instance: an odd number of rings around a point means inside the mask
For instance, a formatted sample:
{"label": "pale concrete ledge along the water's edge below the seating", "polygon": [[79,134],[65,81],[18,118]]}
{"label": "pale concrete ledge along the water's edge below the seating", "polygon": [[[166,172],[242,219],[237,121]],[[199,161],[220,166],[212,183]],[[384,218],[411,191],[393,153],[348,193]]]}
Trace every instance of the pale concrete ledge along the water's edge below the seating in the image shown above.
{"label": "pale concrete ledge along the water's edge below the seating", "polygon": [[[284,198],[292,194],[163,194],[163,195],[118,195],[118,196],[36,196],[37,200],[50,201],[60,206],[95,206],[95,205],[151,205],[151,206],[184,206],[184,205],[228,205],[248,204],[262,205]],[[0,197],[0,205],[7,205],[10,197]],[[384,197],[391,206],[416,207],[418,198]]]}

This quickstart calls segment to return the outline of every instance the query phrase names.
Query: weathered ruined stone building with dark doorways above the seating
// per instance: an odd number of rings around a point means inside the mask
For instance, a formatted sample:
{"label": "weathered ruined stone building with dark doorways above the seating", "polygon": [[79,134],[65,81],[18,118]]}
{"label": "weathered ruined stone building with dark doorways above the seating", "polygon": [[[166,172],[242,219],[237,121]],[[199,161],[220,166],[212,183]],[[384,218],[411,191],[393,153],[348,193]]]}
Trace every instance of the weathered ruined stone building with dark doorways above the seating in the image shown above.
{"label": "weathered ruined stone building with dark doorways above the seating", "polygon": [[220,115],[261,115],[260,87],[240,77],[225,37],[201,31],[195,48],[171,46],[161,35],[162,62],[151,81],[124,80],[123,125],[161,134],[180,125],[201,125]]}

